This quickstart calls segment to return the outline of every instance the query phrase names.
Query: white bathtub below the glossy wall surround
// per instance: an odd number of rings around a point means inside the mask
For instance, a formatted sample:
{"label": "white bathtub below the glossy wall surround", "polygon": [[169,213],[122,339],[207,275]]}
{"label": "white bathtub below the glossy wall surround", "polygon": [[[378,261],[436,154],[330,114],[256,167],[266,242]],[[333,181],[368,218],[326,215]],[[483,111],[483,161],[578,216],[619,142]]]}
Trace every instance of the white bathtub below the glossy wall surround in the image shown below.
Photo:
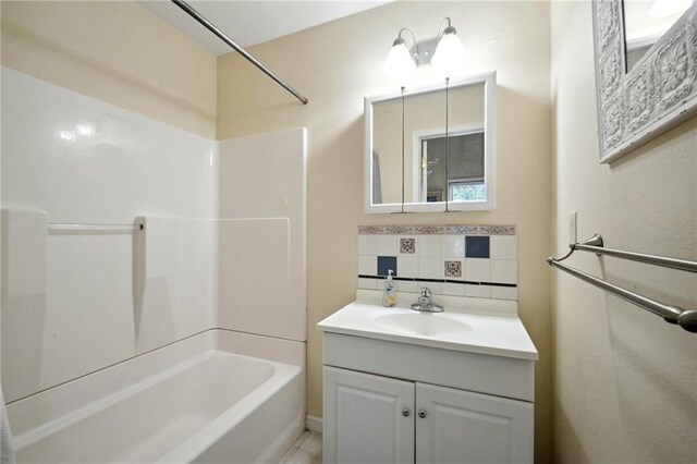
{"label": "white bathtub below the glossy wall surround", "polygon": [[208,330],[8,405],[17,463],[278,462],[305,344]]}

